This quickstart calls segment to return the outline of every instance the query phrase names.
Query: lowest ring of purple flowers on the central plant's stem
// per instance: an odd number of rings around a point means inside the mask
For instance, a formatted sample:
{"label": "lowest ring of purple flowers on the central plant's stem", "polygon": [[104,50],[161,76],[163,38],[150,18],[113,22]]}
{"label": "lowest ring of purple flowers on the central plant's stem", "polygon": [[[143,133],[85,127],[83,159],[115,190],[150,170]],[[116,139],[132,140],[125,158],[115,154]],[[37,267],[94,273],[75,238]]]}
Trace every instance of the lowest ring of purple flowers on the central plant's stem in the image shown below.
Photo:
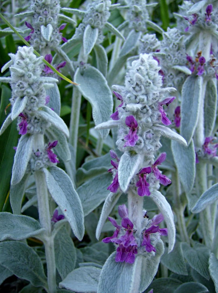
{"label": "lowest ring of purple flowers on the central plant's stem", "polygon": [[117,224],[116,220],[108,217],[116,230],[111,237],[102,240],[104,243],[112,242],[117,245],[115,261],[133,264],[138,252],[140,254],[156,252],[155,244],[160,239],[160,235],[167,236],[167,228],[160,229],[158,226],[163,221],[163,215],[156,215],[149,220],[144,211],[141,219],[143,228],[140,233],[136,234],[134,224],[128,218],[128,209],[124,204],[118,207],[118,213],[122,218],[121,226]]}

